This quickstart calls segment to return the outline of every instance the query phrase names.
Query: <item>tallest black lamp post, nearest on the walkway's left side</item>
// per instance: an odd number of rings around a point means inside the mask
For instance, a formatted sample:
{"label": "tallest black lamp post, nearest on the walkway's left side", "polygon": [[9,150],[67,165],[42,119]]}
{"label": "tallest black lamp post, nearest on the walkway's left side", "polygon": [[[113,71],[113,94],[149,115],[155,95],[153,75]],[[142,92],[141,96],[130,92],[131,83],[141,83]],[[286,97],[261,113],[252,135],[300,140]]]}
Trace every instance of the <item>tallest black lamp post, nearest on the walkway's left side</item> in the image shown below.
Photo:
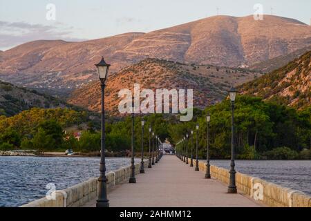
{"label": "tallest black lamp post, nearest on the walkway's left side", "polygon": [[106,64],[104,57],[100,63],[95,64],[97,72],[100,77],[101,89],[102,89],[102,135],[101,135],[101,147],[100,147],[100,177],[98,178],[98,197],[96,207],[109,207],[109,200],[107,199],[107,177],[106,177],[106,162],[105,162],[105,81],[108,77],[110,64]]}

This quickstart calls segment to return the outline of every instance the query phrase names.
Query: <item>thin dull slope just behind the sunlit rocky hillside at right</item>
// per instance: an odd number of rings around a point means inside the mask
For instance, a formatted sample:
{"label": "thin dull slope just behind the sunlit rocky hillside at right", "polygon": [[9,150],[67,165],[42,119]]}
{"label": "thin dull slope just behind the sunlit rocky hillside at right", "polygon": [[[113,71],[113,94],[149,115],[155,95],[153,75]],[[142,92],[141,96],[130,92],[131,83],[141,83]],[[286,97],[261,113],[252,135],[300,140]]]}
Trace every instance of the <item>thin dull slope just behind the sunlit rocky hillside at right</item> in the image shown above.
{"label": "thin dull slope just behind the sunlit rocky hillside at right", "polygon": [[306,48],[301,48],[299,50],[295,50],[294,52],[288,55],[282,55],[282,56],[275,57],[267,61],[261,61],[257,64],[253,64],[252,66],[249,66],[248,68],[250,70],[261,71],[263,73],[270,73],[273,70],[276,70],[276,69],[279,69],[285,66],[286,64],[290,63],[290,61],[293,61],[294,59],[299,58],[301,55],[303,55],[305,52],[308,52],[309,50],[311,50],[311,46],[308,46]]}

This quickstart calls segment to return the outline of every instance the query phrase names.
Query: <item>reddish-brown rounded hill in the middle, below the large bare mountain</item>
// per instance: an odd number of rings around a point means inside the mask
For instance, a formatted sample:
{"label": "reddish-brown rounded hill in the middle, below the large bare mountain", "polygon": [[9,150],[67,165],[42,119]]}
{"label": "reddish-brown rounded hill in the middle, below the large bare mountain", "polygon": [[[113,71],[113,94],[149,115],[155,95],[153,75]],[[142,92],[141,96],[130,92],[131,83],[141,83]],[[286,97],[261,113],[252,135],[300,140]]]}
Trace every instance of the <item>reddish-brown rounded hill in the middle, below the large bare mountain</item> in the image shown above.
{"label": "reddish-brown rounded hill in the middle, below the large bare mountain", "polygon": [[[225,68],[209,65],[182,64],[160,59],[144,59],[138,64],[120,70],[107,81],[105,106],[112,115],[117,115],[120,102],[118,92],[123,88],[133,91],[133,84],[140,84],[140,90],[172,88],[194,89],[194,106],[204,108],[220,102],[227,96],[232,85],[250,81],[260,74],[241,68]],[[100,82],[88,84],[72,93],[68,103],[100,111]]]}

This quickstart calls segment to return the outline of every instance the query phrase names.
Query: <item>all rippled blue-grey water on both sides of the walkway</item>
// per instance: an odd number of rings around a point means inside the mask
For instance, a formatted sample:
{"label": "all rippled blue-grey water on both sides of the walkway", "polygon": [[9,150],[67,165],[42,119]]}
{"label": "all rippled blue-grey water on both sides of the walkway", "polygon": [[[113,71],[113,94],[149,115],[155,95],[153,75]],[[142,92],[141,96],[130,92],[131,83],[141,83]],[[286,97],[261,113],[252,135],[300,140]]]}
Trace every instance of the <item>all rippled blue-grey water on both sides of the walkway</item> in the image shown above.
{"label": "all rippled blue-grey water on both sides of the walkway", "polygon": [[[139,162],[139,159],[137,159]],[[46,184],[65,189],[99,176],[95,157],[0,157],[0,206],[20,206],[44,197]],[[129,158],[107,158],[107,171],[130,164]],[[229,160],[211,160],[229,169]],[[311,195],[311,161],[236,161],[236,170]]]}

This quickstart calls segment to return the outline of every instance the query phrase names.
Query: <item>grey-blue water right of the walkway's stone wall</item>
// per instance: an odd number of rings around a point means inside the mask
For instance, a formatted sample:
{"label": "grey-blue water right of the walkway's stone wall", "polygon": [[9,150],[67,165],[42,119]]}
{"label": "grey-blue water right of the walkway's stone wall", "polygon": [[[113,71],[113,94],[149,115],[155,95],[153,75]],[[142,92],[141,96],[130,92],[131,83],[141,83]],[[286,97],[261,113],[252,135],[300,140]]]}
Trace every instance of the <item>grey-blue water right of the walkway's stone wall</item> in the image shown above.
{"label": "grey-blue water right of the walkway's stone wall", "polygon": [[[229,160],[210,163],[230,169]],[[236,171],[311,195],[311,160],[236,160]]]}

